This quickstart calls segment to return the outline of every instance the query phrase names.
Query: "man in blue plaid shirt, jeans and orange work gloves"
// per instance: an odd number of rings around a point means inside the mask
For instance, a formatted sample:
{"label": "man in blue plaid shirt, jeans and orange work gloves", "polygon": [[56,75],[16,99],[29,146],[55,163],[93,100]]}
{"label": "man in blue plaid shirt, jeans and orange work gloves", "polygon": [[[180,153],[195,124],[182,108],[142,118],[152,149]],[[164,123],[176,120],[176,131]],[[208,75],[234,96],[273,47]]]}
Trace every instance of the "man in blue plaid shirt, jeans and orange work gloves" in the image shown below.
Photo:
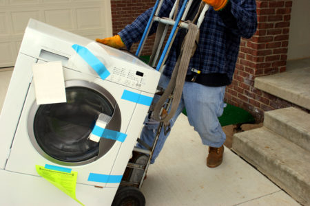
{"label": "man in blue plaid shirt, jeans and orange work gloves", "polygon": [[[175,0],[165,0],[159,16],[168,16]],[[183,94],[174,117],[170,120],[171,126],[178,115],[186,108],[189,124],[199,133],[203,144],[209,146],[207,166],[215,168],[223,161],[225,133],[220,126],[218,117],[222,115],[225,104],[223,102],[225,87],[231,84],[238,58],[240,37],[251,38],[256,32],[256,1],[255,0],[203,0],[211,5],[205,19],[200,26],[198,46],[192,56],[187,69],[187,77],[183,87]],[[183,1],[180,1],[182,5]],[[194,0],[187,19],[194,19],[200,1]],[[118,35],[96,39],[100,43],[112,47],[127,47],[140,41],[152,8],[141,14],[130,25],[127,25]],[[156,31],[156,23],[150,34]],[[159,86],[165,88],[172,76],[174,65],[180,54],[184,32],[180,30],[176,35],[169,57],[165,62],[165,70]],[[196,73],[195,71],[200,71]],[[156,101],[158,97],[154,97]],[[147,117],[141,133],[141,139],[152,145],[156,135],[158,123]],[[154,163],[163,144],[167,139],[163,130],[158,137],[151,163]],[[143,148],[143,146],[138,145]]]}

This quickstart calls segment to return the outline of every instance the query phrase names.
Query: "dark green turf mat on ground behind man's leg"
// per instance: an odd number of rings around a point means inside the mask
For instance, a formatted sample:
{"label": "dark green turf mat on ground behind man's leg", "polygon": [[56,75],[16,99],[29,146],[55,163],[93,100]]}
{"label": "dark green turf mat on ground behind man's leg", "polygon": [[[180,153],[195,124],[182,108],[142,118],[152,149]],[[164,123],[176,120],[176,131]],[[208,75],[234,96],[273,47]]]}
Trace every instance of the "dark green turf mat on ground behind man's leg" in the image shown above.
{"label": "dark green turf mat on ground behind man's leg", "polygon": [[[187,115],[186,110],[183,113]],[[218,117],[221,126],[227,126],[230,124],[244,124],[244,123],[255,123],[254,117],[247,111],[238,106],[227,104],[224,108],[223,115]]]}

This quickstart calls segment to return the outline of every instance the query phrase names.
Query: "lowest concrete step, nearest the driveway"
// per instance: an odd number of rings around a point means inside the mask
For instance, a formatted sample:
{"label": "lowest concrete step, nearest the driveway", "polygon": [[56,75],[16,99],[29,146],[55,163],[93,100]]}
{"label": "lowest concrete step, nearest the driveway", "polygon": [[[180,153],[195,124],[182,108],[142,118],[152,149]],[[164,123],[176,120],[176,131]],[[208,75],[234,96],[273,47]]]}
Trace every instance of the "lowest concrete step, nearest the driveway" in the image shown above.
{"label": "lowest concrete step, nearest the driveway", "polygon": [[310,205],[310,152],[265,126],[234,135],[238,155],[303,205]]}

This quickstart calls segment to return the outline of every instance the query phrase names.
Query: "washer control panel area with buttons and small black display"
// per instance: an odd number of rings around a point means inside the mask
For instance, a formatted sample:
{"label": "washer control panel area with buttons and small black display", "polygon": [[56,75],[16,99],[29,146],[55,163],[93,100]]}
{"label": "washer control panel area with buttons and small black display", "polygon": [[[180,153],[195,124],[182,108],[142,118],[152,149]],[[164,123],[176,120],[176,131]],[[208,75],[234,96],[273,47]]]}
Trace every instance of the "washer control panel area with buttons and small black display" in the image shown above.
{"label": "washer control panel area with buttons and small black display", "polygon": [[141,89],[145,86],[145,77],[147,76],[142,70],[130,69],[125,67],[113,67],[110,69],[110,76],[107,80],[122,84],[127,87],[132,87],[134,89]]}

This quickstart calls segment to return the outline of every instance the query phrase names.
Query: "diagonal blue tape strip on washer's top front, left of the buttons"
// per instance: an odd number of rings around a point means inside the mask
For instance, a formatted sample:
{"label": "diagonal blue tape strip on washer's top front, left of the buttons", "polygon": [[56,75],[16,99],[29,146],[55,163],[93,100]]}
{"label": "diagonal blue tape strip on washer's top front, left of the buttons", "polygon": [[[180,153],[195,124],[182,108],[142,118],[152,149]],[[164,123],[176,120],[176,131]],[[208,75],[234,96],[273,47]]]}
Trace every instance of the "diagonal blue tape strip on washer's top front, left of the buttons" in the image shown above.
{"label": "diagonal blue tape strip on washer's top front, left of the buttons", "polygon": [[85,60],[85,62],[87,62],[88,65],[90,65],[90,67],[92,67],[92,69],[94,69],[94,71],[96,71],[96,73],[98,73],[103,80],[110,76],[110,71],[108,71],[105,65],[103,65],[103,63],[86,47],[75,44],[72,45],[72,48],[77,54],[79,54],[79,56],[81,56],[81,58],[83,58],[83,60]]}

